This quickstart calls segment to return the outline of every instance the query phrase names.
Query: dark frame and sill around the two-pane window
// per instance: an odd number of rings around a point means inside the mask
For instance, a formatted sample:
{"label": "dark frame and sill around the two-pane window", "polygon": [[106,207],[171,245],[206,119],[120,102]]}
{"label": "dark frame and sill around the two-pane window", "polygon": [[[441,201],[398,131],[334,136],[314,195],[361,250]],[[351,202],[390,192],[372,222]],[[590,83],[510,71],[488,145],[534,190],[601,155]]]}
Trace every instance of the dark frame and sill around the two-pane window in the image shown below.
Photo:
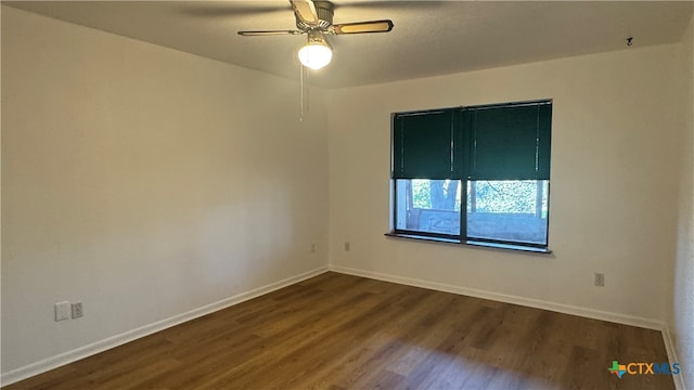
{"label": "dark frame and sill around the two-pane window", "polygon": [[[548,144],[548,148],[551,151],[551,133],[552,133],[552,109],[553,109],[553,100],[552,99],[542,99],[542,100],[534,100],[534,101],[520,101],[520,102],[509,102],[509,103],[500,103],[500,104],[485,104],[485,105],[476,105],[476,106],[460,106],[460,107],[450,107],[450,108],[435,108],[435,109],[425,109],[425,110],[414,110],[414,112],[402,112],[402,113],[393,113],[391,114],[391,118],[390,118],[390,199],[391,199],[391,207],[390,207],[390,212],[391,212],[391,218],[390,218],[390,223],[391,223],[391,229],[390,232],[386,233],[385,235],[388,237],[396,237],[396,238],[406,238],[406,239],[416,239],[416,240],[427,240],[427,242],[439,242],[439,243],[447,243],[447,244],[458,244],[458,245],[465,245],[465,246],[474,246],[474,247],[485,247],[485,248],[498,248],[498,249],[511,249],[511,250],[520,250],[520,251],[531,251],[531,252],[539,252],[539,253],[551,253],[552,251],[549,249],[549,244],[550,244],[550,202],[551,202],[551,181],[548,174],[547,179],[535,179],[535,180],[547,180],[547,231],[545,231],[545,244],[538,244],[538,243],[529,243],[529,242],[514,242],[514,240],[505,240],[505,239],[492,239],[492,238],[472,238],[467,235],[467,199],[468,199],[468,195],[467,195],[467,190],[468,190],[468,182],[472,181],[472,179],[470,178],[468,174],[468,167],[467,165],[470,165],[470,156],[467,155],[468,151],[465,152],[465,155],[463,158],[463,166],[464,168],[462,169],[462,171],[464,171],[464,174],[461,174],[460,178],[452,178],[450,180],[458,180],[460,182],[460,191],[461,191],[461,207],[460,207],[460,231],[459,234],[445,234],[445,233],[435,233],[435,232],[422,232],[422,231],[413,231],[413,230],[408,230],[408,229],[398,229],[398,188],[397,188],[397,181],[398,180],[414,180],[414,179],[404,179],[404,178],[396,178],[396,161],[395,161],[395,145],[396,145],[396,141],[395,141],[395,136],[396,136],[396,131],[395,131],[395,123],[396,123],[396,116],[398,115],[424,115],[427,113],[439,113],[439,112],[446,112],[446,110],[451,110],[452,112],[452,127],[454,129],[457,129],[458,132],[462,133],[463,138],[468,138],[470,136],[470,131],[472,131],[471,129],[465,129],[463,120],[461,120],[461,117],[464,115],[463,113],[465,113],[466,109],[486,109],[486,108],[502,108],[502,107],[522,107],[522,106],[528,106],[528,105],[534,105],[534,106],[540,106],[540,105],[549,105],[550,106],[550,119],[549,119],[549,123],[550,123],[550,128],[549,128],[549,134],[550,134],[550,140],[548,140],[547,142]],[[453,138],[455,138],[457,135],[453,135]],[[467,143],[465,143],[467,142]],[[539,144],[540,140],[538,139],[538,144]],[[472,141],[467,140],[467,141],[463,141],[463,144],[465,146],[470,146],[472,144]],[[538,146],[539,147],[539,146]],[[451,156],[452,156],[452,152],[451,152]],[[467,159],[467,160],[466,160]],[[548,158],[550,159],[550,158]],[[458,164],[458,162],[452,162],[452,164]],[[551,160],[548,161],[549,167],[551,167]],[[440,179],[427,179],[427,178],[419,178],[419,179],[425,179],[425,180],[440,180]],[[476,179],[477,181],[481,180],[481,179]],[[407,224],[406,224],[407,225]]]}

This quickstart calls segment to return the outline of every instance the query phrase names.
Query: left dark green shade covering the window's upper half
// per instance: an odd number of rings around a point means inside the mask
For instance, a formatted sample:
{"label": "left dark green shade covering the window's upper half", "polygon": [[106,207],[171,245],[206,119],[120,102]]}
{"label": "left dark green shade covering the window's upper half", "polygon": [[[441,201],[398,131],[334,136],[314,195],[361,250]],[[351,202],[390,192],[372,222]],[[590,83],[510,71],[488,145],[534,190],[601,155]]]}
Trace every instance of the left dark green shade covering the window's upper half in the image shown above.
{"label": "left dark green shade covering the window's upper half", "polygon": [[393,120],[394,179],[451,179],[453,112],[396,114]]}

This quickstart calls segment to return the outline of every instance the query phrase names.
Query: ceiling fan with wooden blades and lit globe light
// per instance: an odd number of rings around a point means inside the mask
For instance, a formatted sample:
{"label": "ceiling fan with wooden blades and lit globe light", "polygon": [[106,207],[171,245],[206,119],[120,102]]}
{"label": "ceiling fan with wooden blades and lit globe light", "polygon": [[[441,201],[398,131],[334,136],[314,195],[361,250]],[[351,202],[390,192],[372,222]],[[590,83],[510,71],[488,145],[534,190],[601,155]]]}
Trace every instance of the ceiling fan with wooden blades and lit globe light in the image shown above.
{"label": "ceiling fan with wooden blades and lit globe light", "polygon": [[369,21],[333,24],[334,9],[332,2],[324,0],[290,0],[296,28],[291,30],[239,31],[244,37],[308,35],[308,43],[299,52],[299,61],[311,69],[320,69],[330,64],[333,51],[325,35],[388,32],[393,29],[393,21]]}

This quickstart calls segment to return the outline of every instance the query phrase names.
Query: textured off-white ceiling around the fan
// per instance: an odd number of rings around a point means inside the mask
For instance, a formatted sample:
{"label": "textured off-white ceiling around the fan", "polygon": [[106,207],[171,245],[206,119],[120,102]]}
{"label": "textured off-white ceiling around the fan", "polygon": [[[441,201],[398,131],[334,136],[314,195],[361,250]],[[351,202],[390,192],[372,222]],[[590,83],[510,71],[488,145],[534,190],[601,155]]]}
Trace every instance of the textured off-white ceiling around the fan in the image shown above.
{"label": "textured off-white ceiling around the fan", "polygon": [[[395,28],[330,36],[333,62],[310,75],[312,83],[329,88],[678,42],[694,9],[694,1],[333,2],[335,23],[390,18]],[[293,79],[306,39],[236,35],[294,28],[286,0],[2,3]]]}

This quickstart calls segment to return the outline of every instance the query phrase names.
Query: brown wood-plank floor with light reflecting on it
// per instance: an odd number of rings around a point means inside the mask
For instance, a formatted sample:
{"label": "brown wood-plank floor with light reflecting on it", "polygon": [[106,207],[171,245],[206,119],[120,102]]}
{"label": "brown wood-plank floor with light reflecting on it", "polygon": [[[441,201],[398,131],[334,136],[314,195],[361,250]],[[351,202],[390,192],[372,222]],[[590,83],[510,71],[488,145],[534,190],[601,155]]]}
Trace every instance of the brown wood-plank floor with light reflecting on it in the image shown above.
{"label": "brown wood-plank floor with light reflecting on it", "polygon": [[673,389],[659,332],[325,273],[3,389]]}

